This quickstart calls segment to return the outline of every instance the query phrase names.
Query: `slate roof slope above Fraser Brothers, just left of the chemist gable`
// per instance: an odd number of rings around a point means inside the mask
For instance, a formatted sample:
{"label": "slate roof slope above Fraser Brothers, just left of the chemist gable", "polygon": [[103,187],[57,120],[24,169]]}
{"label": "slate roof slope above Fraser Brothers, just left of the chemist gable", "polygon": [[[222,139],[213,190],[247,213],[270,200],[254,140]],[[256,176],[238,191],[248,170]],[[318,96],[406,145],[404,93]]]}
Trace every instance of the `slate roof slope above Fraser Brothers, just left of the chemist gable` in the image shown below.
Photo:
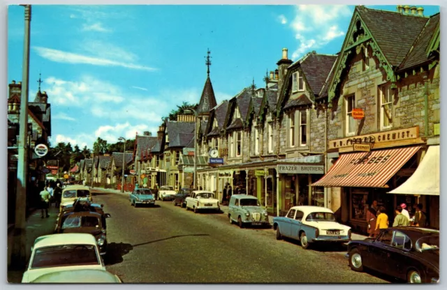
{"label": "slate roof slope above Fraser Brothers, just left of the chemist gable", "polygon": [[335,55],[310,53],[300,62],[301,69],[314,94],[320,93],[336,59]]}

